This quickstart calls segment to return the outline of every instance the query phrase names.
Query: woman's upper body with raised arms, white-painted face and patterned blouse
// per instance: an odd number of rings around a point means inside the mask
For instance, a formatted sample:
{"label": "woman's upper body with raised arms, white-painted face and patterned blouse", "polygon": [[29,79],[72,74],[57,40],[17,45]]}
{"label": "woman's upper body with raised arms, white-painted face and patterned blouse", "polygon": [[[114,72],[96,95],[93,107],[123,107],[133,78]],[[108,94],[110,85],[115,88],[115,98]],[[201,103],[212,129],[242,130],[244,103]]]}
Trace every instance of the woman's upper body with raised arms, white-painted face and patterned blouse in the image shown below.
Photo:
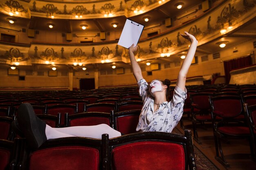
{"label": "woman's upper body with raised arms, white-painted face and patterned blouse", "polygon": [[[139,85],[139,94],[143,100],[143,107],[139,116],[139,123],[137,131],[159,131],[172,132],[173,128],[177,126],[183,113],[184,100],[186,99],[186,75],[195,55],[195,50],[198,44],[196,38],[184,32],[183,38],[191,42],[189,51],[182,63],[180,72],[177,78],[177,84],[174,89],[173,99],[167,102],[167,95],[169,94],[170,80],[165,81],[153,80],[149,86],[142,77],[139,64],[135,60],[134,52],[137,46],[130,46],[129,56],[132,64],[132,72]],[[150,94],[148,94],[148,91]]]}

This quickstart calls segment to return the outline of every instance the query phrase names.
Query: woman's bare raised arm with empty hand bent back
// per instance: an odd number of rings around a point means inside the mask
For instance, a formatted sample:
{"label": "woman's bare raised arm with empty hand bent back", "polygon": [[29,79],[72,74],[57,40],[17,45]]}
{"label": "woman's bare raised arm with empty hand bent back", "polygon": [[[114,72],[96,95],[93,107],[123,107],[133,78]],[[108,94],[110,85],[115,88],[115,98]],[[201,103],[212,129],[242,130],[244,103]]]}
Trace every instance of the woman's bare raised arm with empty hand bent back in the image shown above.
{"label": "woman's bare raised arm with empty hand bent back", "polygon": [[198,41],[196,40],[196,38],[191,35],[188,32],[184,32],[185,35],[181,34],[183,38],[186,38],[187,40],[189,40],[191,42],[190,46],[189,46],[189,50],[188,53],[186,54],[186,58],[184,59],[182,66],[180,68],[180,72],[177,78],[177,86],[179,88],[181,88],[182,90],[185,90],[185,84],[186,84],[186,75],[189,71],[189,67],[191,65],[191,62],[193,60],[193,57],[195,55],[195,50],[196,47],[198,45]]}

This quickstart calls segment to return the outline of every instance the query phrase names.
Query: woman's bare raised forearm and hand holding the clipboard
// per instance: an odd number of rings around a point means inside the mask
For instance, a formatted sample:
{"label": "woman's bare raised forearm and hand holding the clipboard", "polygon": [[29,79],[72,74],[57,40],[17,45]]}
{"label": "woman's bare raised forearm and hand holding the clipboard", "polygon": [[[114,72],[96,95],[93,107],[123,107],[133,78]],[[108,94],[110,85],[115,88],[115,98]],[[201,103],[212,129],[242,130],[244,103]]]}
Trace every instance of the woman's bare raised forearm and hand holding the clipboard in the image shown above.
{"label": "woman's bare raised forearm and hand holding the clipboard", "polygon": [[141,73],[139,64],[137,63],[135,56],[134,56],[134,52],[137,50],[137,47],[138,46],[134,46],[134,44],[132,44],[132,46],[130,46],[129,56],[130,56],[130,62],[132,64],[132,73],[138,82],[140,79],[143,79],[143,77],[142,77],[142,73]]}

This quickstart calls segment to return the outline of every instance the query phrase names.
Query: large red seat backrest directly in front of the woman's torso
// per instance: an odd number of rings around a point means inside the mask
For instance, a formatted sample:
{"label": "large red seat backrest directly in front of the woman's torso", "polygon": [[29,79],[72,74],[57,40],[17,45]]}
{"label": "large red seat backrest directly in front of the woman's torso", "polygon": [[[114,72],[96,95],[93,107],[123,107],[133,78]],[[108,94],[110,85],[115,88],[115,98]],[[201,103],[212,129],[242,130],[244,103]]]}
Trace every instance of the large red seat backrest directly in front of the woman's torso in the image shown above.
{"label": "large red seat backrest directly in front of the woman's torso", "polygon": [[112,139],[103,135],[102,139],[107,149],[103,159],[112,170],[196,169],[191,130],[185,130],[185,136],[139,132]]}

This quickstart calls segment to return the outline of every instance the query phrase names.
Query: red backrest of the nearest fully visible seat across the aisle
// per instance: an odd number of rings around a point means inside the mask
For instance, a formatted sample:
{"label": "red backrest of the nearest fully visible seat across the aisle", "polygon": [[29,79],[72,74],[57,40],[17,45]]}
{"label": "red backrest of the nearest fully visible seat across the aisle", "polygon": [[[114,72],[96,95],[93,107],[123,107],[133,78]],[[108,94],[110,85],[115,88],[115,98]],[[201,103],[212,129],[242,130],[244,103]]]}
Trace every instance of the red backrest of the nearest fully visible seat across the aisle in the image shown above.
{"label": "red backrest of the nearest fully visible seat across the aisle", "polygon": [[243,114],[243,102],[240,96],[209,97],[212,113],[222,118],[235,118]]}

